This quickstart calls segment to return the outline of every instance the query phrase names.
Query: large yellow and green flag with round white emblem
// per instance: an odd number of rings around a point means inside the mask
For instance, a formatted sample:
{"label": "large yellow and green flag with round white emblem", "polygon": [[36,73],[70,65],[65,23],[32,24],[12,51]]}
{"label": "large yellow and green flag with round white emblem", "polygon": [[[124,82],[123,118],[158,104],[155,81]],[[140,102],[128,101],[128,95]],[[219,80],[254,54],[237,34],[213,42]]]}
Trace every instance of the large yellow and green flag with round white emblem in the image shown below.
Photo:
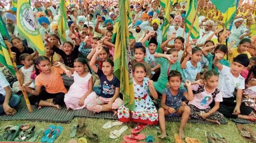
{"label": "large yellow and green flag with round white emblem", "polygon": [[31,10],[28,0],[18,0],[16,17],[19,34],[33,45],[39,55],[44,55],[44,43],[37,28],[34,11]]}

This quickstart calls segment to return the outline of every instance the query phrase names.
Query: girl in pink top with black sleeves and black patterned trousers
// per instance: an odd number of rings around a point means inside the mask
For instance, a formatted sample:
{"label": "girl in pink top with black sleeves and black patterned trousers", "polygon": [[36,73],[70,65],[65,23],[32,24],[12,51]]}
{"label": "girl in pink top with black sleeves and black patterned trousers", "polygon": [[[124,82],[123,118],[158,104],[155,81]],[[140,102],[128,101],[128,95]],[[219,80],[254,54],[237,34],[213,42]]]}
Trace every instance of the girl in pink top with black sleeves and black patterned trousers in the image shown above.
{"label": "girl in pink top with black sleeves and black patterned trousers", "polygon": [[[217,87],[219,81],[218,73],[214,70],[207,71],[204,74],[204,80],[192,82],[194,99],[188,102],[188,106],[191,109],[190,117],[220,124],[218,120],[221,120],[223,115],[217,110],[223,100],[220,89]],[[209,105],[213,101],[215,105],[211,109]]]}

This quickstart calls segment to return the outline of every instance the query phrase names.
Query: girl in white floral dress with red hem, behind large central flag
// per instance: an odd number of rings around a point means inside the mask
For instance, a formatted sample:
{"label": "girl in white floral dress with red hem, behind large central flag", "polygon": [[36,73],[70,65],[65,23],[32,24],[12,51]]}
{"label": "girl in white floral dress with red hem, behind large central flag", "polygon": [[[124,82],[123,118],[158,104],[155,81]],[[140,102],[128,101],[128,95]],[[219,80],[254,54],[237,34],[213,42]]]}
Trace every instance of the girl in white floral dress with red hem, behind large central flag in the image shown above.
{"label": "girl in white floral dress with red hem, behind large central flag", "polygon": [[[153,81],[146,78],[146,67],[142,63],[137,63],[133,67],[133,85],[135,108],[132,112],[132,122],[156,125],[158,124],[158,114],[152,99],[158,95],[153,86]],[[124,105],[117,110],[117,116],[120,122],[129,122],[129,109]]]}

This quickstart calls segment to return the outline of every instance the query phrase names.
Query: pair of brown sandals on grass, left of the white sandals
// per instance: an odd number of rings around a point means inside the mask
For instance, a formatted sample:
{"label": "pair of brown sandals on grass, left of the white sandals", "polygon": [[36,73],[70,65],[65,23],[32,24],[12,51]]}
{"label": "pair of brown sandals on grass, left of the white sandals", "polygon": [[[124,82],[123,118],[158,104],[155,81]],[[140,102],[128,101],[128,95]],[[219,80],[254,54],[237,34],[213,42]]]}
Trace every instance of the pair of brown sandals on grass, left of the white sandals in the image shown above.
{"label": "pair of brown sandals on grass, left of the white sandals", "polygon": [[76,137],[82,137],[83,135],[86,135],[87,138],[91,139],[93,142],[98,142],[98,135],[92,133],[92,131],[87,130],[85,126],[84,119],[78,119],[78,126],[76,131]]}

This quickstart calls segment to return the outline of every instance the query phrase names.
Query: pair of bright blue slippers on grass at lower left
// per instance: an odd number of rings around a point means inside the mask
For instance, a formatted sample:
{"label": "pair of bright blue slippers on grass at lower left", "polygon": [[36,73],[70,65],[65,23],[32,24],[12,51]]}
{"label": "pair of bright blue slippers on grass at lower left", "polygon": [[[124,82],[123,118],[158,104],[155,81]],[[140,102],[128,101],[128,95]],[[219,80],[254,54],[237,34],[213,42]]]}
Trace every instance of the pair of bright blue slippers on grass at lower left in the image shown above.
{"label": "pair of bright blue slippers on grass at lower left", "polygon": [[60,136],[62,132],[62,126],[49,125],[44,131],[44,135],[41,138],[41,142],[54,142]]}

